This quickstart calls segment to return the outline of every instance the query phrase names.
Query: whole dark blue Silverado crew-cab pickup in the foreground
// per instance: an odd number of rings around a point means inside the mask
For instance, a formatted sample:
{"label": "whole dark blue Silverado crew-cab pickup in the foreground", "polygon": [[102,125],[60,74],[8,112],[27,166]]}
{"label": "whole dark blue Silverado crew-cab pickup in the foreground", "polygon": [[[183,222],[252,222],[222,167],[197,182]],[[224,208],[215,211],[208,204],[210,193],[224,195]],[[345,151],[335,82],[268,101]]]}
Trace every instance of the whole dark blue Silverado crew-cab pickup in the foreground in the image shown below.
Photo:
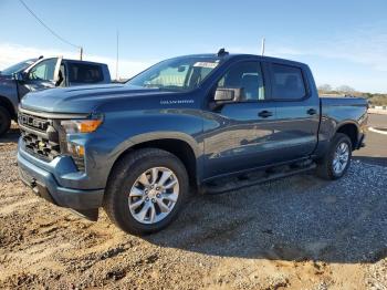
{"label": "whole dark blue Silverado crew-cab pickup in the foreground", "polygon": [[36,195],[92,220],[103,207],[145,234],[176,218],[189,191],[312,169],[342,177],[366,121],[366,100],[318,97],[303,63],[221,50],[163,61],[122,85],[29,93],[18,163]]}

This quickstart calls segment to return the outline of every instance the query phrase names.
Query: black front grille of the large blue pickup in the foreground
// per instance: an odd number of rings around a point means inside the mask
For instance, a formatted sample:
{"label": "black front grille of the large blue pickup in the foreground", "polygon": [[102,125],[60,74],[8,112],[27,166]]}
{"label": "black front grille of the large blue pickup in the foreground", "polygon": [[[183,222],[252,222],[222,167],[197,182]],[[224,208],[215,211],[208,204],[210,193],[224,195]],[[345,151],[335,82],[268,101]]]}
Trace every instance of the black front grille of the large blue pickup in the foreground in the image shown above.
{"label": "black front grille of the large blue pickup in the foreground", "polygon": [[25,151],[31,155],[50,162],[61,154],[59,133],[52,120],[19,112],[18,121]]}

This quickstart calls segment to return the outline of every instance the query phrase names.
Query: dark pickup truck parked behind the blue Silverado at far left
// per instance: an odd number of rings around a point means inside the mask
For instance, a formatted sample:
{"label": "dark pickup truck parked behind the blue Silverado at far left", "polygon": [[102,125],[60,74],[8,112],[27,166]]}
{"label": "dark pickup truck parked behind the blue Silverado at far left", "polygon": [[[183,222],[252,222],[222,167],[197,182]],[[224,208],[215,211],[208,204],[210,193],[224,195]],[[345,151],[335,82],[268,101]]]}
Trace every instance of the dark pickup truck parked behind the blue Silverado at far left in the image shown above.
{"label": "dark pickup truck parked behind the blue Silverado at far left", "polygon": [[0,136],[10,128],[11,120],[17,121],[19,102],[29,92],[109,82],[103,63],[41,56],[12,65],[0,72]]}

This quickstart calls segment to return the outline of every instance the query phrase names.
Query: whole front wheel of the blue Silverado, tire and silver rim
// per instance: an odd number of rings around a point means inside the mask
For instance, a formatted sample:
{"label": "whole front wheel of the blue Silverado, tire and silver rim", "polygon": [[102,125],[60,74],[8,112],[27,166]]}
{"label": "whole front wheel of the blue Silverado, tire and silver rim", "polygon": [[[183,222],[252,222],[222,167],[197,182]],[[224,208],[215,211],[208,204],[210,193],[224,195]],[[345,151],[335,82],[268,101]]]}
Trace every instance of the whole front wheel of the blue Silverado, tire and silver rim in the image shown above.
{"label": "whole front wheel of the blue Silverado, tire and silver rim", "polygon": [[156,148],[139,149],[113,169],[104,208],[126,232],[155,232],[176,218],[188,188],[187,170],[179,158]]}

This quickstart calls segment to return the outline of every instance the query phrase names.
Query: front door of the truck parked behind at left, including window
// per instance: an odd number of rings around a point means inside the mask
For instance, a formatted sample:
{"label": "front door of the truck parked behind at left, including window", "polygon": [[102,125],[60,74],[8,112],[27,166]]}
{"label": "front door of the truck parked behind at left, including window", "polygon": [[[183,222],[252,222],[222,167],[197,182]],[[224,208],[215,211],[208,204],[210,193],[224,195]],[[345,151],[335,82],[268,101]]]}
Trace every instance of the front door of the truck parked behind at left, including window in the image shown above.
{"label": "front door of the truck parked behind at left, including window", "polygon": [[43,59],[25,72],[23,81],[19,81],[19,96],[29,92],[52,89],[56,86],[62,58]]}

